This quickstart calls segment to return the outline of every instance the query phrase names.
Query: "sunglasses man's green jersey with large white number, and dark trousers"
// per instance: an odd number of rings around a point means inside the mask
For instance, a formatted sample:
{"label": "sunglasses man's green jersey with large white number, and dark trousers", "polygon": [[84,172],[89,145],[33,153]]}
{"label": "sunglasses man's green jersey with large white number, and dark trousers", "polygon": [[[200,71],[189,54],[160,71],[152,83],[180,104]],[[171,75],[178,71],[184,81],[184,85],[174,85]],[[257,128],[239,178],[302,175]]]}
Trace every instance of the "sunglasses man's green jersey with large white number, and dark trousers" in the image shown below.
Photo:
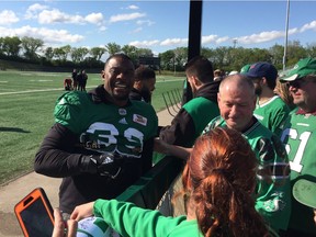
{"label": "sunglasses man's green jersey with large white number, and dark trousers", "polygon": [[[298,110],[291,115],[285,127],[281,139],[289,154],[292,187],[300,178],[316,181],[316,115]],[[313,218],[313,210],[293,199],[289,227],[316,236]]]}

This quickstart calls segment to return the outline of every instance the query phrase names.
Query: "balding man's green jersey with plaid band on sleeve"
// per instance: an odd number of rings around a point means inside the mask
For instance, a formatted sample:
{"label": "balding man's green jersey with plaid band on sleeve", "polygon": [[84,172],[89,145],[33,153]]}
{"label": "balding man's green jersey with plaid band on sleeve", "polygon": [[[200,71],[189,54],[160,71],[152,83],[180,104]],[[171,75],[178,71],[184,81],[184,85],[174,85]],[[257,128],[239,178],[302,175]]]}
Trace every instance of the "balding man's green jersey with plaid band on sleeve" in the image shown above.
{"label": "balding man's green jersey with plaid band on sleeve", "polygon": [[[203,133],[216,126],[226,126],[221,116],[211,121]],[[291,187],[284,146],[275,134],[258,121],[242,135],[259,161],[255,207],[273,229],[286,229],[291,213]]]}

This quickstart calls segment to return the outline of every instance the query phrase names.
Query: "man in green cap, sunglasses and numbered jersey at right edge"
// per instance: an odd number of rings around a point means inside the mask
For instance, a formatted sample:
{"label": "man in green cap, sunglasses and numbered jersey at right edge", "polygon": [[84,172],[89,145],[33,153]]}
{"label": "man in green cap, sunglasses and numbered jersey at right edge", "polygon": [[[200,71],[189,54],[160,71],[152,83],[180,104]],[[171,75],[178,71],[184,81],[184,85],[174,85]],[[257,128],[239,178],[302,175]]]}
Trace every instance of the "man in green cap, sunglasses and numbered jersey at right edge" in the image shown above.
{"label": "man in green cap, sunglasses and numbered jersey at right edge", "polygon": [[[301,179],[316,181],[316,58],[304,58],[281,78],[286,82],[297,110],[282,133],[291,166],[291,184]],[[316,196],[314,196],[316,200]],[[316,236],[313,208],[295,199],[286,236]]]}

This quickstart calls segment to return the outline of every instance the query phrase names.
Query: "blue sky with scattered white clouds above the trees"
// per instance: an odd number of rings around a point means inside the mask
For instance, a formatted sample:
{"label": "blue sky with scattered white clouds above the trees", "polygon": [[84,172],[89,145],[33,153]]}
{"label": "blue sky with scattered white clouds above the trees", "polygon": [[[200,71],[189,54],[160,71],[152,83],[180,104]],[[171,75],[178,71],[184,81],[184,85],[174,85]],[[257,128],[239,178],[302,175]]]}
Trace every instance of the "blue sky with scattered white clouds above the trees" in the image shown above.
{"label": "blue sky with scattered white clouds above the trees", "polygon": [[[149,48],[155,55],[188,46],[189,0],[0,0],[0,37],[41,38],[45,47]],[[316,1],[290,0],[287,41],[316,44]],[[284,45],[287,0],[204,0],[202,46]]]}

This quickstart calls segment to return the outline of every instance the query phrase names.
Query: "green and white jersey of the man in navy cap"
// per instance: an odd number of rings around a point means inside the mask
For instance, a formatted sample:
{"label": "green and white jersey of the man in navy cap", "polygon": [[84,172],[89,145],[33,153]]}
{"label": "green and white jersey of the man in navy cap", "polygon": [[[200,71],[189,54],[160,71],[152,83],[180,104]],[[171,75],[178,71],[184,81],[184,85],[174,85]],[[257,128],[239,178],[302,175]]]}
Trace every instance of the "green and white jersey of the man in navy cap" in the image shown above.
{"label": "green and white jersey of the man in navy cap", "polygon": [[257,103],[253,111],[257,120],[278,136],[281,136],[289,113],[289,106],[279,95],[274,95],[261,105]]}

